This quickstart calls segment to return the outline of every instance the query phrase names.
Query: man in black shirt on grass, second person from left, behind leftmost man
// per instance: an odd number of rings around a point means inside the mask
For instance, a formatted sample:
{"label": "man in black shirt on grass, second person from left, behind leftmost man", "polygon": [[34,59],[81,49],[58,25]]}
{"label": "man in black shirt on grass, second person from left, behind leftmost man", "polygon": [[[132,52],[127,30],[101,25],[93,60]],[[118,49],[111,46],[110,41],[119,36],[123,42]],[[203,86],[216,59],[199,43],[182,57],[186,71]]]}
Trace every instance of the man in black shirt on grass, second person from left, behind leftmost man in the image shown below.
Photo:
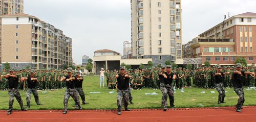
{"label": "man in black shirt on grass, second person from left, behind leftmost man", "polygon": [[35,102],[37,105],[42,105],[39,103],[39,96],[38,96],[38,92],[36,89],[36,84],[38,82],[37,77],[34,76],[35,75],[35,70],[32,69],[30,70],[30,76],[28,76],[27,78],[22,78],[22,80],[27,80],[28,82],[28,90],[27,90],[27,107],[30,108],[30,99],[31,99],[31,93],[33,93],[34,97],[35,97]]}

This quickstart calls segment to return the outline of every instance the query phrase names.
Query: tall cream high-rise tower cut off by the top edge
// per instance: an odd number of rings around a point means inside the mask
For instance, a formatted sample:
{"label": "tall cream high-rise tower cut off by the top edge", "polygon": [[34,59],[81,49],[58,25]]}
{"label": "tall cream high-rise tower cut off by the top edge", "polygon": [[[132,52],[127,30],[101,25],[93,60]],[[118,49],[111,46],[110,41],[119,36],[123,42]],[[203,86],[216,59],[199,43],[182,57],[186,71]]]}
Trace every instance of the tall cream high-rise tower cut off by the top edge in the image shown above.
{"label": "tall cream high-rise tower cut off by the top edge", "polygon": [[180,0],[131,0],[132,58],[182,59]]}

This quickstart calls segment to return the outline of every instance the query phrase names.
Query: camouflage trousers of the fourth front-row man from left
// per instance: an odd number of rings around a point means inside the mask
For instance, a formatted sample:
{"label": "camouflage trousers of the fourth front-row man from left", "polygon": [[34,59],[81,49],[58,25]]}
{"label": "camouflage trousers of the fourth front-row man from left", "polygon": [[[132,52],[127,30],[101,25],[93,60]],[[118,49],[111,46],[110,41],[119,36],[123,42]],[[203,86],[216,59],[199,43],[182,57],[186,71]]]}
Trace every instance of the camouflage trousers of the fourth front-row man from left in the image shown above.
{"label": "camouflage trousers of the fourth front-row man from left", "polygon": [[165,84],[163,87],[163,97],[162,97],[162,104],[166,107],[167,104],[167,97],[169,96],[170,106],[174,106],[174,87],[169,84]]}

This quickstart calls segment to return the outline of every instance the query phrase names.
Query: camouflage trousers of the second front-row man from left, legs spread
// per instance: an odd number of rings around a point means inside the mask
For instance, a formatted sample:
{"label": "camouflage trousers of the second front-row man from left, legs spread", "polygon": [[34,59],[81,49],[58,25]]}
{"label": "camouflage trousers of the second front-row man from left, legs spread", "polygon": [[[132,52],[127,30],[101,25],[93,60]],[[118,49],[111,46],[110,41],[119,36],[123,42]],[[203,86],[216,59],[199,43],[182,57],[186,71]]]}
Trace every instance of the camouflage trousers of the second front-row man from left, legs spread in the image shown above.
{"label": "camouflage trousers of the second front-row man from left, legs spread", "polygon": [[65,91],[64,101],[63,101],[63,104],[64,104],[64,111],[67,111],[67,110],[68,110],[68,102],[69,102],[69,97],[70,97],[70,96],[71,96],[71,97],[73,98],[73,100],[76,102],[76,104],[78,105],[78,107],[81,108],[79,99],[78,99],[78,97],[77,97],[76,89],[75,89],[75,88],[73,88],[73,89],[67,88],[66,91]]}

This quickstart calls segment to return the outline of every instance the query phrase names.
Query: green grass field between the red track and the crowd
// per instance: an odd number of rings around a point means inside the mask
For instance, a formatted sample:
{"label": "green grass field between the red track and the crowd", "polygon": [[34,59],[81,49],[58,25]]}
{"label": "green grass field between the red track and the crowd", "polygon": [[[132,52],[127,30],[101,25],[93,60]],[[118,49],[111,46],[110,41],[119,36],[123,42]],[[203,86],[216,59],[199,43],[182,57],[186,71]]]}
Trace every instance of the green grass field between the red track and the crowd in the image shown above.
{"label": "green grass field between the red track and the crowd", "polygon": [[[82,109],[117,109],[116,104],[116,90],[110,90],[106,88],[99,88],[99,77],[88,76],[84,77],[83,81],[83,90],[86,94],[86,102],[90,103],[87,105],[82,105]],[[245,88],[246,89],[246,88]],[[256,90],[245,90],[245,103],[244,106],[255,106],[256,105]],[[109,93],[114,91],[113,94]],[[205,93],[201,93],[205,91]],[[210,93],[210,91],[215,91],[215,93]],[[201,107],[227,107],[227,106],[236,106],[238,101],[238,95],[233,92],[233,89],[225,89],[226,97],[225,104],[218,105],[218,92],[215,89],[203,89],[203,88],[185,88],[184,92],[181,93],[180,90],[176,89],[174,94],[175,97],[175,106],[177,108],[201,108]],[[90,93],[90,92],[100,92],[100,93]],[[157,92],[158,95],[146,95],[145,93]],[[0,91],[0,110],[8,110],[9,95],[8,91]],[[63,98],[65,89],[60,89],[56,91],[47,91],[46,93],[39,93],[39,102],[44,104],[37,106],[34,100],[34,96],[31,96],[31,106],[29,110],[61,110],[63,106]],[[22,96],[23,104],[26,107],[26,92],[20,91]],[[132,91],[134,105],[129,105],[130,109],[158,109],[161,107],[161,97],[162,93],[160,89],[152,90],[148,88],[143,88],[141,90]],[[81,101],[80,101],[81,103]],[[199,106],[202,104],[203,106]],[[75,103],[72,97],[70,97],[68,103],[68,109],[75,109]],[[27,107],[26,107],[27,108]],[[168,103],[168,107],[169,103]],[[13,104],[14,110],[20,110],[17,100],[14,100]]]}

